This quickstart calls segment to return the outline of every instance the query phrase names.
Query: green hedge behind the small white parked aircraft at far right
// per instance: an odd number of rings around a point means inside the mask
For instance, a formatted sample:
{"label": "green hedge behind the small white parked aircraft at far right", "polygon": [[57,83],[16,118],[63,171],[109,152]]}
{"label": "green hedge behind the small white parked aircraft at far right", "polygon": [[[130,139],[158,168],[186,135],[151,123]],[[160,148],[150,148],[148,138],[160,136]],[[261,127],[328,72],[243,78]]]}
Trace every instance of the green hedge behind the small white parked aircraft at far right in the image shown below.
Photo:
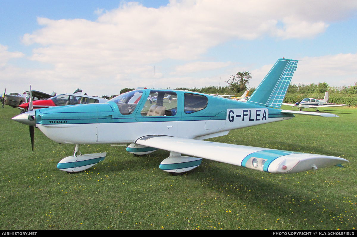
{"label": "green hedge behind the small white parked aircraft at far right", "polygon": [[[295,104],[296,102],[301,101],[304,98],[323,99],[324,95],[325,93],[306,93],[306,94],[287,93],[284,101],[285,103]],[[333,93],[329,95],[328,102],[336,103],[336,104],[346,104],[346,105],[357,107],[357,94]]]}

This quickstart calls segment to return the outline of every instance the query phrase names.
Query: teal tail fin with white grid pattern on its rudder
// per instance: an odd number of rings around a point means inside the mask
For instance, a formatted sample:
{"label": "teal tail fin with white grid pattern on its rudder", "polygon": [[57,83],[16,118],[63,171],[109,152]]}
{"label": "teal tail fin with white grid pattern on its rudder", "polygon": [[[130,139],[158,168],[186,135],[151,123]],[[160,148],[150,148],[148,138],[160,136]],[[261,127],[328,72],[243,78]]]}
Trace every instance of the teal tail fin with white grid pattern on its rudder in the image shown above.
{"label": "teal tail fin with white grid pattern on its rudder", "polygon": [[278,59],[247,103],[279,109],[296,70],[297,62],[291,59]]}

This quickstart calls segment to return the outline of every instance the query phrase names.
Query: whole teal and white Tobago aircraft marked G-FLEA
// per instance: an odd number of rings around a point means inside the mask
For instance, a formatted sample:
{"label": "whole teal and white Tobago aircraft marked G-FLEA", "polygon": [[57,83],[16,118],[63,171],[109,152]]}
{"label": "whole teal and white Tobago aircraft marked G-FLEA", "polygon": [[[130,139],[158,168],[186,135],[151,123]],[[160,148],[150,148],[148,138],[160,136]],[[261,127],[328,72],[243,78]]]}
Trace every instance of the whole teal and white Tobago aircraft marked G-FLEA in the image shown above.
{"label": "whole teal and white Tobago aircraft marked G-FLEA", "polygon": [[[297,62],[279,59],[247,102],[190,91],[141,89],[104,104],[38,109],[13,120],[29,125],[30,133],[36,126],[53,141],[75,144],[74,155],[57,165],[67,172],[86,170],[106,156],[105,152],[83,155],[80,144],[129,143],[126,150],[135,155],[164,149],[170,156],[159,167],[172,174],[192,170],[202,158],[271,173],[296,173],[348,162],[340,157],[205,141],[233,129],[292,119],[293,114],[336,116],[280,110]],[[157,96],[156,101],[147,100],[149,96]],[[164,100],[168,96],[172,100]]]}

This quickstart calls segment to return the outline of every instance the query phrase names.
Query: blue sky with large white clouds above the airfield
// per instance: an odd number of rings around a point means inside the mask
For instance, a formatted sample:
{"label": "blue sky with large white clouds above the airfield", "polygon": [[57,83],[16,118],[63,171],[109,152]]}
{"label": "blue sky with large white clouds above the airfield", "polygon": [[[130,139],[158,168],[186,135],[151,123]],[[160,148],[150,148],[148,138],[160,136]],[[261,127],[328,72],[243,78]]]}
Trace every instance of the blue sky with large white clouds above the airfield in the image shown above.
{"label": "blue sky with large white clouds above the airfield", "polygon": [[[0,0],[0,91],[256,87],[278,58],[294,84],[357,82],[357,1]],[[2,88],[2,89],[1,89]]]}

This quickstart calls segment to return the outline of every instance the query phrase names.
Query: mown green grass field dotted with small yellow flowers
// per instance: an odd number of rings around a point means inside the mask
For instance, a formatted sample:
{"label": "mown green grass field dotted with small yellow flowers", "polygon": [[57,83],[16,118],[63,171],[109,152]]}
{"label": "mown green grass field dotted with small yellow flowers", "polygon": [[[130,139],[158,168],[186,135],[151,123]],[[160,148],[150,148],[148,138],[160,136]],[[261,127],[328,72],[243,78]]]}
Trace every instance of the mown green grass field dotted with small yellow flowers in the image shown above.
{"label": "mown green grass field dotted with small yellow flowers", "polygon": [[[282,109],[291,109],[282,107]],[[292,120],[231,131],[211,141],[346,158],[329,167],[278,175],[203,160],[182,176],[159,169],[168,151],[134,157],[125,147],[81,146],[107,152],[85,172],[56,168],[73,155],[0,108],[2,230],[355,230],[357,228],[357,109],[325,110],[340,118]]]}

